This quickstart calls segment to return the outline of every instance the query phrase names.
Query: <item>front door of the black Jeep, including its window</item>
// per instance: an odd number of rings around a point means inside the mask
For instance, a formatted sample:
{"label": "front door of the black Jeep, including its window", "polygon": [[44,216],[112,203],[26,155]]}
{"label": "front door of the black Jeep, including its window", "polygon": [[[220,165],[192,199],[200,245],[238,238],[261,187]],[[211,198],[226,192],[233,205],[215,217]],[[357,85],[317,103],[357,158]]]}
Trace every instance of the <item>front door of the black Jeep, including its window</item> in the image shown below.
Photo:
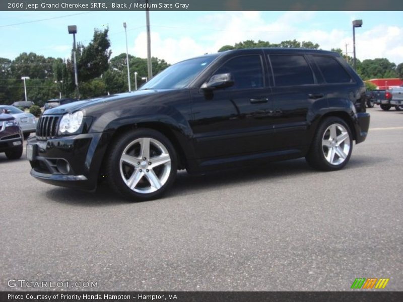
{"label": "front door of the black Jeep, including its window", "polygon": [[192,91],[191,128],[199,159],[242,156],[270,148],[272,102],[265,66],[262,50],[229,57],[211,75],[231,73],[232,87],[211,93]]}

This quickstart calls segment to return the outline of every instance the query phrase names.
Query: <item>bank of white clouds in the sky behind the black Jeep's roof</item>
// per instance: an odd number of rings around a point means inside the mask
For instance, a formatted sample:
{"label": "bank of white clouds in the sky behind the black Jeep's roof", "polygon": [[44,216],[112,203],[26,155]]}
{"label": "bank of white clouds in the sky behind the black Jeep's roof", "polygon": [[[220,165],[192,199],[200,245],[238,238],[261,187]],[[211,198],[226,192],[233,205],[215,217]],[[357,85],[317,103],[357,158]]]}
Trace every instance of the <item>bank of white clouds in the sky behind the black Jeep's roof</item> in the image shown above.
{"label": "bank of white clouds in the sky behind the black Jeep's roof", "polygon": [[[306,24],[316,22],[318,12],[285,12],[277,19],[267,20],[260,12],[219,12],[206,15],[188,27],[178,25],[172,32],[151,33],[152,56],[169,63],[216,52],[223,45],[234,45],[244,40],[263,40],[279,43],[284,40],[312,41],[321,49],[341,48],[349,55],[353,52],[350,30],[307,30]],[[350,18],[353,18],[351,16]],[[157,28],[158,29],[158,28]],[[356,30],[357,57],[361,60],[386,57],[396,64],[403,62],[403,28],[378,25],[372,29]],[[119,49],[120,50],[120,49]],[[121,49],[120,52],[125,52]],[[120,53],[114,52],[114,55]],[[146,32],[137,35],[129,53],[147,57]]]}

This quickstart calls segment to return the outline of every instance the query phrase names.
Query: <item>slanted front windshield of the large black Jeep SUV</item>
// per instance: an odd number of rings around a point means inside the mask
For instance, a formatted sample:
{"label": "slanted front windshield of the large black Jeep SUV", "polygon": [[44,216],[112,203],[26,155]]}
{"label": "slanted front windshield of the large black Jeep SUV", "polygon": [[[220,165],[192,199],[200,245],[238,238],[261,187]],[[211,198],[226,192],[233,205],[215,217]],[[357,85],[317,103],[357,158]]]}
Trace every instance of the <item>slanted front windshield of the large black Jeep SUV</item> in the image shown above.
{"label": "slanted front windshield of the large black Jeep SUV", "polygon": [[184,88],[216,57],[206,55],[169,66],[144,84],[140,90]]}

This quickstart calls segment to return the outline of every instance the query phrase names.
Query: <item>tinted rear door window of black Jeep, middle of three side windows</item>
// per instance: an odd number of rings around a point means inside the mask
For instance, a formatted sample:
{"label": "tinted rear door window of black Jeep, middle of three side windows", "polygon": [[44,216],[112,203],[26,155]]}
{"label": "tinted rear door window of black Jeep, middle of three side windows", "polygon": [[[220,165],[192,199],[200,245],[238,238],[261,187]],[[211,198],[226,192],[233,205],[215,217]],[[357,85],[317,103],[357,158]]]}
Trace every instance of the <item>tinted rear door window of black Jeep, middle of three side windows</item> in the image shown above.
{"label": "tinted rear door window of black Jeep, middle of three side windows", "polygon": [[271,54],[275,86],[315,84],[313,74],[303,55]]}

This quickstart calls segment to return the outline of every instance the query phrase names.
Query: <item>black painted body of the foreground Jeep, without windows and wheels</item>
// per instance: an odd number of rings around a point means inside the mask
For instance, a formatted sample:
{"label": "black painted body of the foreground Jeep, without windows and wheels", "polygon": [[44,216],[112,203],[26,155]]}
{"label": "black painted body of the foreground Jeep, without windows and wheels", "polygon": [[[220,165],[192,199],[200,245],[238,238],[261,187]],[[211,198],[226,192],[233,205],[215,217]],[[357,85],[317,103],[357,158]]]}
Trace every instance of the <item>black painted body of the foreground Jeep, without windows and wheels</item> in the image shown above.
{"label": "black painted body of the foreground Jeep, without windows and wheels", "polygon": [[[274,86],[267,59],[272,53],[304,55],[315,74],[315,84]],[[336,57],[354,81],[340,85],[323,83],[318,67],[309,58],[317,53]],[[224,62],[246,54],[261,56],[263,88],[214,92],[200,89]],[[165,134],[179,154],[179,168],[190,173],[256,160],[299,158],[308,152],[318,123],[327,115],[345,119],[356,143],[365,140],[369,114],[363,106],[364,95],[361,79],[334,53],[296,49],[224,52],[217,54],[187,88],[140,90],[47,110],[44,115],[58,116],[83,110],[91,118],[81,134],[29,139],[29,144],[36,145],[31,174],[48,183],[94,190],[99,177],[107,177],[102,175],[102,163],[111,141],[119,133],[137,127],[149,127]],[[57,158],[71,164],[71,175],[43,173],[38,168],[39,161]],[[75,177],[78,175],[83,176],[81,180]]]}

